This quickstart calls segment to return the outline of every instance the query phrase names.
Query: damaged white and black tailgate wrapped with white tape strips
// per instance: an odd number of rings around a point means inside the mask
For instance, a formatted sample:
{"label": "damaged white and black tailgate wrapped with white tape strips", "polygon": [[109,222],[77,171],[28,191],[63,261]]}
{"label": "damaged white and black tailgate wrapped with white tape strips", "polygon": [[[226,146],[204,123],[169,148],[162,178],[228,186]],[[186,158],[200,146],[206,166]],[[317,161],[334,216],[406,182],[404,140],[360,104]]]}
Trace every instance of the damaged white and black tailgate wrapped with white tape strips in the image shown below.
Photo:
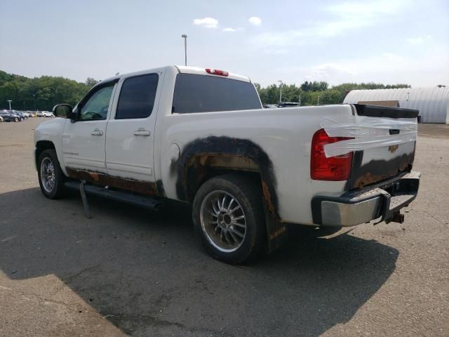
{"label": "damaged white and black tailgate wrapped with white tape strips", "polygon": [[351,139],[324,147],[326,157],[353,153],[346,190],[353,190],[410,172],[415,158],[417,110],[352,105],[347,121],[322,121],[326,133]]}

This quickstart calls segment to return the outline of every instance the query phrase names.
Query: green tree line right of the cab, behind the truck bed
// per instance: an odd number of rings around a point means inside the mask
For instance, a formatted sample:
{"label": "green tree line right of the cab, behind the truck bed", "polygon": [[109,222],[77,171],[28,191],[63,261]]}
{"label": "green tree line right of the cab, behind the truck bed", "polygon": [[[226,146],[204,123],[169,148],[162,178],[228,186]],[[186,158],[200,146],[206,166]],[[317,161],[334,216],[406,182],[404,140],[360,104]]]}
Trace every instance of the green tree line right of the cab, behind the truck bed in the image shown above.
{"label": "green tree line right of the cab, behind the truck bed", "polygon": [[[255,87],[263,104],[279,103],[280,85],[272,84],[262,88],[256,83]],[[392,88],[411,88],[411,86],[408,84],[344,83],[329,88],[326,81],[305,81],[300,86],[283,84],[282,100],[301,103],[301,105],[340,104],[351,90]]]}

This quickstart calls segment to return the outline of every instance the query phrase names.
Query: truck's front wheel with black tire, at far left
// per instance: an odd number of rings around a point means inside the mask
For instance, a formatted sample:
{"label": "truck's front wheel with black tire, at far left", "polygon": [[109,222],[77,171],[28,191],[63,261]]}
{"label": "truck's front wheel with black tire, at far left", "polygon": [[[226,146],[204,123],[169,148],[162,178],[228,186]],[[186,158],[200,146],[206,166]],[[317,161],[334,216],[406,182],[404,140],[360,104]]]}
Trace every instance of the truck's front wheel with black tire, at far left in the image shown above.
{"label": "truck's front wheel with black tire, at far left", "polygon": [[[50,164],[53,165],[53,169],[49,166]],[[48,172],[48,170],[51,172]],[[45,171],[48,172],[48,176],[43,176]],[[65,176],[62,173],[55,150],[45,150],[41,153],[37,166],[37,176],[41,191],[48,199],[59,199],[64,195]],[[51,180],[50,176],[54,178],[53,184],[49,183],[49,180]]]}

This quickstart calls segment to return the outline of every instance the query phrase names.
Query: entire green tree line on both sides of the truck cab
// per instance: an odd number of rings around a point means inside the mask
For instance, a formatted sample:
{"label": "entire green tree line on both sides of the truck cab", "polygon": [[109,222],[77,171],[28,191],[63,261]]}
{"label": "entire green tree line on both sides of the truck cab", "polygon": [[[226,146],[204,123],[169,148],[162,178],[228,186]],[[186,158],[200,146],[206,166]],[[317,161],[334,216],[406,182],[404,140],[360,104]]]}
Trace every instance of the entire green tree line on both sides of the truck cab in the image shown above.
{"label": "entire green tree line on both sides of the truck cab", "polygon": [[[98,81],[89,77],[84,83],[63,77],[28,77],[8,74],[0,70],[0,109],[8,109],[12,100],[14,110],[52,110],[58,103],[72,106],[81,100]],[[262,88],[255,84],[264,104],[279,103],[280,86],[272,84]],[[326,81],[304,81],[300,86],[282,85],[282,100],[300,102],[301,105],[338,104],[344,96],[356,89],[410,88],[408,84],[384,85],[376,83],[344,83],[329,87]]]}

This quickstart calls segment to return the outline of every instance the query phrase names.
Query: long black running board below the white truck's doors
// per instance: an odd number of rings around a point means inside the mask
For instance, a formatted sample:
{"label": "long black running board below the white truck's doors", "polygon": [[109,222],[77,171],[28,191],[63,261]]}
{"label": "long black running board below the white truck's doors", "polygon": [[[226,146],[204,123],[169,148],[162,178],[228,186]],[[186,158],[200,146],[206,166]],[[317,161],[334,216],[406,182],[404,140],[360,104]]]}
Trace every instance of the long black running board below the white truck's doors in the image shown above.
{"label": "long black running board below the white truck's doors", "polygon": [[[64,183],[64,186],[69,188],[70,190],[79,191],[80,184],[82,183],[76,180],[72,180],[66,181]],[[128,204],[144,207],[145,209],[156,210],[159,208],[159,206],[162,206],[163,204],[163,201],[161,200],[152,199],[149,197],[142,197],[141,195],[130,194],[127,192],[109,190],[105,187],[98,187],[95,185],[83,184],[83,189],[86,192],[86,194],[96,195],[98,197],[103,197],[109,200],[126,202]]]}

